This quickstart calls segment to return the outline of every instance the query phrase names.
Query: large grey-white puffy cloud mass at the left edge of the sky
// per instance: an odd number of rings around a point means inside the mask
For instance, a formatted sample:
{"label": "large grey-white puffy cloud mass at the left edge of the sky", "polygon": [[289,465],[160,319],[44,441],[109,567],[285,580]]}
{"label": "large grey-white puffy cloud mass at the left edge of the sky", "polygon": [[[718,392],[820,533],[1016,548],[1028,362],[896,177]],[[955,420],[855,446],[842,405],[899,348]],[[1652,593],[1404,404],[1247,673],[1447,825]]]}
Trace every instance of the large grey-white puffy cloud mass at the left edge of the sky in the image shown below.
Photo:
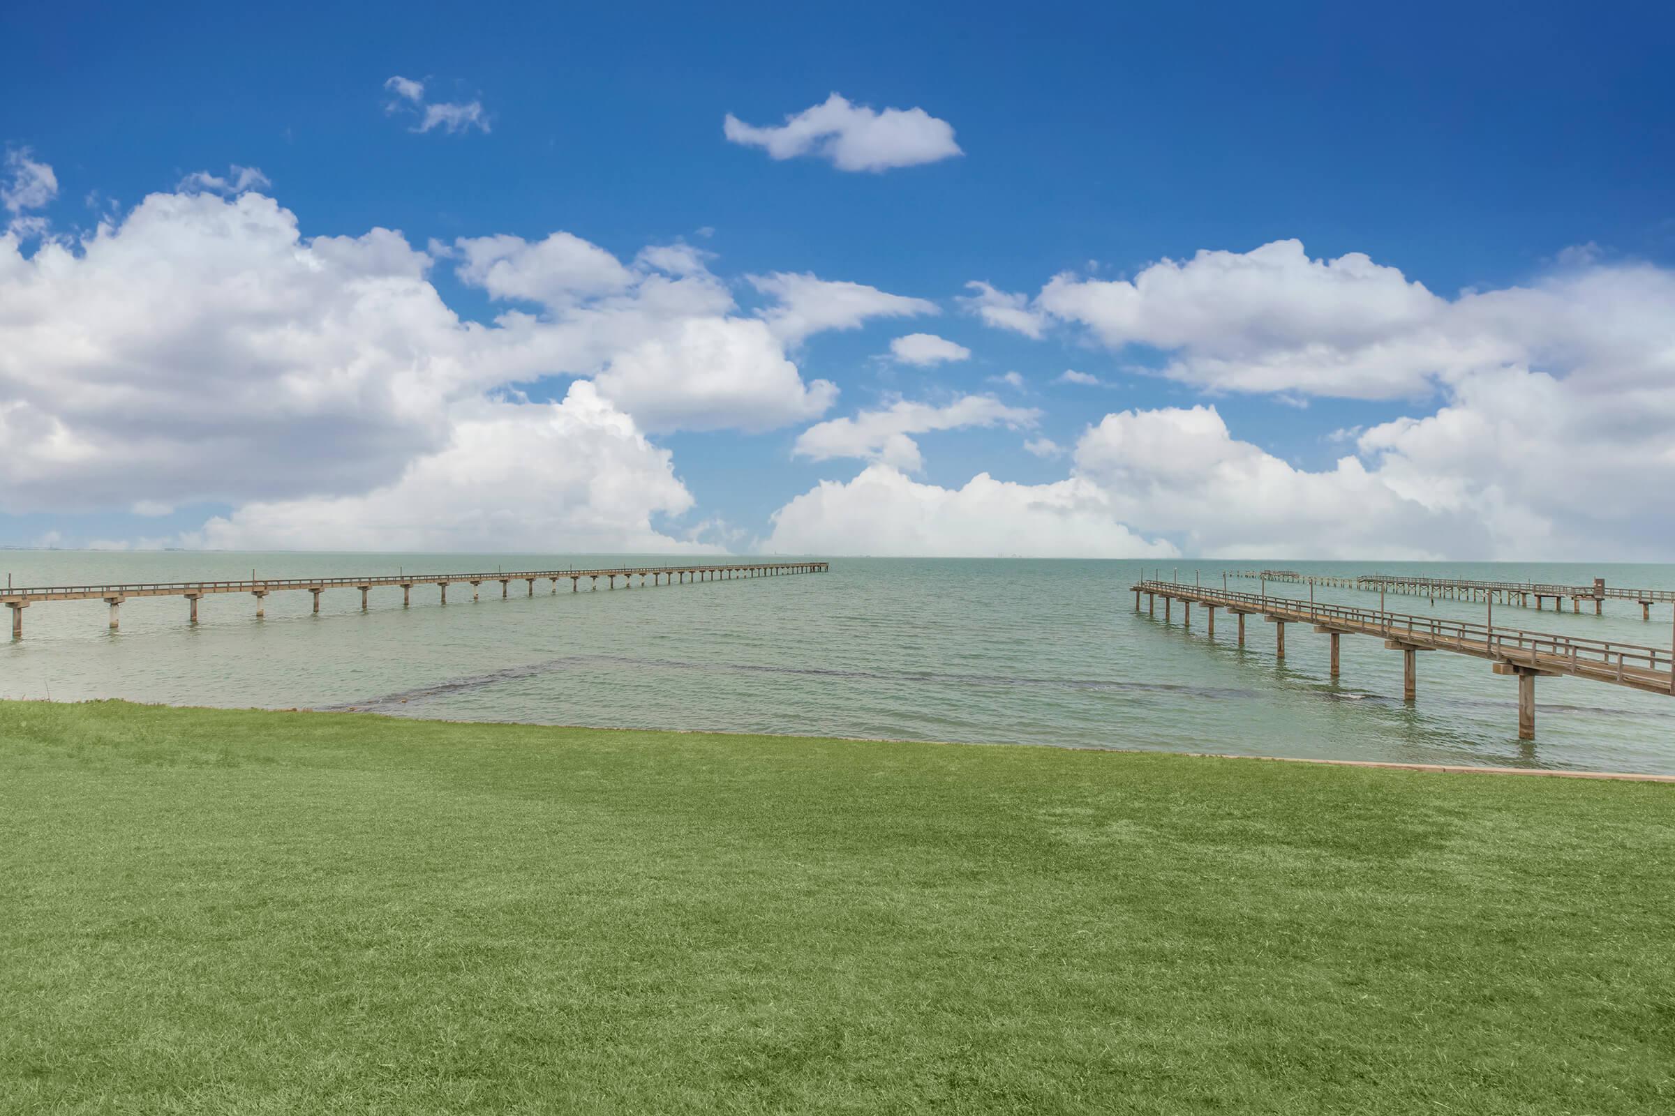
{"label": "large grey-white puffy cloud mass at the left edge of the sky", "polygon": [[[79,248],[79,251],[77,251]],[[0,239],[10,510],[382,482],[487,387],[395,233],[303,241],[260,194],[152,194],[79,246]]]}

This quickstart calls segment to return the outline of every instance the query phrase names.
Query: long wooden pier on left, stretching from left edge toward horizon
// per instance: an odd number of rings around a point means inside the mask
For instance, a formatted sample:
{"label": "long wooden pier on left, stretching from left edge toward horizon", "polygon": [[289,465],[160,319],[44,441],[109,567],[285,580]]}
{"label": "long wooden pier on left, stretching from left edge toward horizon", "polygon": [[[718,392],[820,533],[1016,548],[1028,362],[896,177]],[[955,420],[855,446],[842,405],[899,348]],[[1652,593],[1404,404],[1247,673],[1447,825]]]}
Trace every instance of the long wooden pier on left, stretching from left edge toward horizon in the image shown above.
{"label": "long wooden pier on left, stretching from left edge toward horizon", "polygon": [[523,581],[529,584],[529,596],[534,596],[538,581],[551,581],[553,592],[558,584],[570,579],[570,591],[578,592],[581,579],[588,579],[591,589],[600,587],[600,577],[606,579],[606,589],[616,587],[616,579],[623,579],[623,587],[631,587],[638,577],[645,586],[650,577],[653,586],[678,586],[698,581],[734,581],[739,577],[781,577],[786,574],[824,574],[829,562],[744,562],[717,566],[698,562],[692,566],[615,566],[603,569],[541,569],[541,571],[494,571],[492,574],[379,574],[375,577],[250,577],[245,581],[162,581],[132,582],[126,586],[42,586],[34,589],[0,589],[0,604],[12,609],[12,639],[23,637],[23,609],[44,601],[104,601],[111,606],[111,631],[117,631],[117,617],[122,602],[129,597],[186,597],[191,602],[188,622],[198,622],[198,601],[221,592],[248,592],[256,599],[256,616],[265,614],[270,592],[286,589],[307,589],[313,594],[313,611],[320,611],[320,596],[327,589],[360,589],[360,609],[367,611],[367,597],[379,586],[400,586],[402,607],[412,604],[414,586],[436,586],[441,591],[441,602],[447,604],[447,587],[469,584],[471,599],[477,599],[479,586],[499,582],[501,596],[509,596],[511,584]]}

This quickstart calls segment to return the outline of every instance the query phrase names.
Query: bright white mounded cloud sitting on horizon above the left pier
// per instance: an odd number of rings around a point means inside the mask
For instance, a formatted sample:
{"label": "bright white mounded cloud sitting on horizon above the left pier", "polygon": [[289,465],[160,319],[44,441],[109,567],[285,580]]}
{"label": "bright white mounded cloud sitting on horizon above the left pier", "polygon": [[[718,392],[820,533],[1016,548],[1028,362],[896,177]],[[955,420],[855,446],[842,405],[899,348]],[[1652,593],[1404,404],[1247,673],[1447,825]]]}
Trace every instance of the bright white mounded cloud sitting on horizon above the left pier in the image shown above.
{"label": "bright white mounded cloud sitting on horizon above the left pier", "polygon": [[668,450],[578,381],[561,403],[456,403],[446,447],[370,492],[253,502],[211,519],[211,547],[397,550],[709,550],[652,525],[692,495]]}

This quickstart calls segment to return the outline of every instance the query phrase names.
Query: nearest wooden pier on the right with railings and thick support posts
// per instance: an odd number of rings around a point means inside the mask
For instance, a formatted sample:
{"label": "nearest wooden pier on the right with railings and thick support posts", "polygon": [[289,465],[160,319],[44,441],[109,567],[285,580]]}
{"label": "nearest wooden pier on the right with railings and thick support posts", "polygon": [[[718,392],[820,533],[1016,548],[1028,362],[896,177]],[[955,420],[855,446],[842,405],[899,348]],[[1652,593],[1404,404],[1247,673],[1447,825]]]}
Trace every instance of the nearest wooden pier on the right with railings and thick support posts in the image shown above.
{"label": "nearest wooden pier on the right with railings and thick support posts", "polygon": [[1675,648],[1578,639],[1435,616],[1407,616],[1342,604],[1315,604],[1290,597],[1183,586],[1172,581],[1141,581],[1132,586],[1132,591],[1136,611],[1141,607],[1141,596],[1146,596],[1146,609],[1151,616],[1156,616],[1157,597],[1162,597],[1166,621],[1171,619],[1176,601],[1181,602],[1184,624],[1193,622],[1193,606],[1201,606],[1208,614],[1211,637],[1216,634],[1216,609],[1226,609],[1238,617],[1241,648],[1245,646],[1245,617],[1261,616],[1275,626],[1275,651],[1281,659],[1285,658],[1285,626],[1310,624],[1317,634],[1330,639],[1333,679],[1338,678],[1338,641],[1343,636],[1382,639],[1387,649],[1402,653],[1402,698],[1407,701],[1414,701],[1419,689],[1417,656],[1420,651],[1454,651],[1489,659],[1496,674],[1518,678],[1519,740],[1533,740],[1536,735],[1536,679],[1541,676],[1569,674],[1675,696]]}

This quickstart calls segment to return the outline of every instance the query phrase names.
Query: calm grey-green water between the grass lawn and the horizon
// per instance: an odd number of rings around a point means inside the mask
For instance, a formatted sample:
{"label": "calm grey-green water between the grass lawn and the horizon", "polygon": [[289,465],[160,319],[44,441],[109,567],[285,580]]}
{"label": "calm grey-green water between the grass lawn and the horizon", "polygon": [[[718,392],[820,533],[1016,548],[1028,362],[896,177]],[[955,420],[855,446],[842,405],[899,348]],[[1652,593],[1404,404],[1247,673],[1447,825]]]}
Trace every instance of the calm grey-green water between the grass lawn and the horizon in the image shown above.
{"label": "calm grey-green water between the grass lawn and the horizon", "polygon": [[[196,577],[352,576],[551,569],[640,559],[585,555],[89,554],[13,550],[17,584]],[[663,562],[667,557],[643,559]],[[1219,582],[1251,562],[1181,566]],[[1365,562],[1285,562],[1305,572],[1368,572]],[[1452,577],[1675,587],[1675,566],[1384,564]],[[0,696],[131,698],[213,706],[372,708],[395,716],[625,728],[727,729],[1070,748],[1156,748],[1276,756],[1482,763],[1675,773],[1675,698],[1576,679],[1541,679],[1538,740],[1516,738],[1516,683],[1487,663],[1422,654],[1419,701],[1400,701],[1402,656],[1343,641],[1327,679],[1327,639],[1253,622],[1246,649],[1221,617],[1186,629],[1134,611],[1139,562],[834,559],[829,574],[556,596],[523,582],[449,591],[213,596],[199,624],[179,597],[131,599],[122,631],[100,601],[35,604],[25,639],[0,642]],[[1166,567],[1164,577],[1174,576]],[[1233,582],[1255,592],[1255,582]],[[1306,586],[1276,586],[1308,596]],[[1368,606],[1377,594],[1317,591]],[[1481,604],[1390,597],[1392,611],[1481,617]],[[1633,602],[1585,612],[1499,606],[1496,621],[1670,644],[1670,606],[1650,624]],[[8,617],[7,617],[8,619]]]}

